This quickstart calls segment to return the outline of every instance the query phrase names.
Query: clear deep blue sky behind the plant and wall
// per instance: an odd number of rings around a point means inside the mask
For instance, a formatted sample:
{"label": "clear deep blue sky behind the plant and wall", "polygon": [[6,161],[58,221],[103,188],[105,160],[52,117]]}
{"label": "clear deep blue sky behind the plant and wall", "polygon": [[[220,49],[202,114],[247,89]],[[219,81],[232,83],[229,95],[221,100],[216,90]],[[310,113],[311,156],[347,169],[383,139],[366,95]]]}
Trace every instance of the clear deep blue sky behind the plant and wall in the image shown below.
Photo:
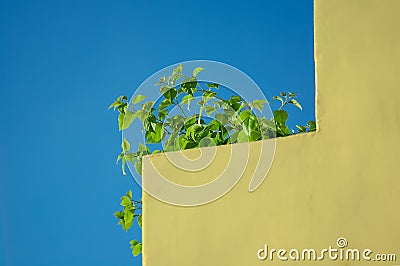
{"label": "clear deep blue sky behind the plant and wall", "polygon": [[231,64],[300,94],[292,126],[314,119],[311,0],[1,0],[0,38],[0,265],[141,265],[107,107],[163,67]]}

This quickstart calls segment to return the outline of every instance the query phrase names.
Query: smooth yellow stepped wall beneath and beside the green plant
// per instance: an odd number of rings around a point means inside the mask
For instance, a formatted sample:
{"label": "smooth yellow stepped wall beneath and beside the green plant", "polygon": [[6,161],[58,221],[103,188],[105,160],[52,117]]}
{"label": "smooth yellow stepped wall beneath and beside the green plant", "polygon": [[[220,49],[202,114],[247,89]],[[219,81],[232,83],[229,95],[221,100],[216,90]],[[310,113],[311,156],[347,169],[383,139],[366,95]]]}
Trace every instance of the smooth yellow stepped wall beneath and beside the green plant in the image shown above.
{"label": "smooth yellow stepped wall beneath and beside the green plant", "polygon": [[[278,139],[254,193],[247,190],[254,163],[232,191],[204,206],[176,207],[144,193],[144,265],[310,265],[261,261],[257,250],[336,247],[338,237],[349,248],[396,253],[397,263],[316,264],[400,264],[399,11],[399,0],[315,1],[318,131]],[[158,155],[145,158],[144,182],[149,160],[185,178]]]}

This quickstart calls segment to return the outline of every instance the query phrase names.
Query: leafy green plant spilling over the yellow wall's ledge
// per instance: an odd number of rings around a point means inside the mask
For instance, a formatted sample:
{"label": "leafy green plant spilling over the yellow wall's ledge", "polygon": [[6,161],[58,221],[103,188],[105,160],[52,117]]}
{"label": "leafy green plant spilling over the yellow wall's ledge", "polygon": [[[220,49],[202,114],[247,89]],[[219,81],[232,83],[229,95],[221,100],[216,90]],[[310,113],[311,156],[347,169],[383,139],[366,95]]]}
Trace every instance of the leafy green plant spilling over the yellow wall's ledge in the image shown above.
{"label": "leafy green plant spilling over the yellow wall's ledge", "polygon": [[[314,121],[309,121],[305,126],[296,126],[297,132],[287,126],[288,113],[284,108],[294,105],[302,110],[295,93],[281,92],[279,96],[274,96],[273,99],[280,101],[281,106],[268,119],[255,114],[256,110],[262,112],[266,100],[246,102],[238,95],[224,94],[219,90],[219,84],[197,80],[197,74],[202,70],[201,67],[195,68],[191,76],[185,76],[180,65],[170,76],[162,77],[156,84],[161,94],[161,100],[156,103],[144,102],[145,96],[136,95],[131,102],[128,97],[120,96],[110,105],[110,108],[119,112],[119,130],[127,129],[135,119],[139,119],[146,139],[146,143],[139,144],[134,152],[128,140],[123,139],[117,163],[122,161],[124,175],[127,162],[134,164],[141,175],[142,157],[150,153],[257,141],[315,131]],[[189,115],[193,102],[199,105],[200,110]],[[172,116],[170,111],[175,107],[180,110],[180,114]],[[204,113],[208,118],[203,117]],[[162,142],[164,145],[161,145]],[[123,211],[117,211],[115,216],[124,230],[133,225],[135,218],[141,227],[141,204],[141,201],[132,199],[131,191],[121,198]],[[130,243],[133,255],[140,254],[142,244],[137,240]]]}

